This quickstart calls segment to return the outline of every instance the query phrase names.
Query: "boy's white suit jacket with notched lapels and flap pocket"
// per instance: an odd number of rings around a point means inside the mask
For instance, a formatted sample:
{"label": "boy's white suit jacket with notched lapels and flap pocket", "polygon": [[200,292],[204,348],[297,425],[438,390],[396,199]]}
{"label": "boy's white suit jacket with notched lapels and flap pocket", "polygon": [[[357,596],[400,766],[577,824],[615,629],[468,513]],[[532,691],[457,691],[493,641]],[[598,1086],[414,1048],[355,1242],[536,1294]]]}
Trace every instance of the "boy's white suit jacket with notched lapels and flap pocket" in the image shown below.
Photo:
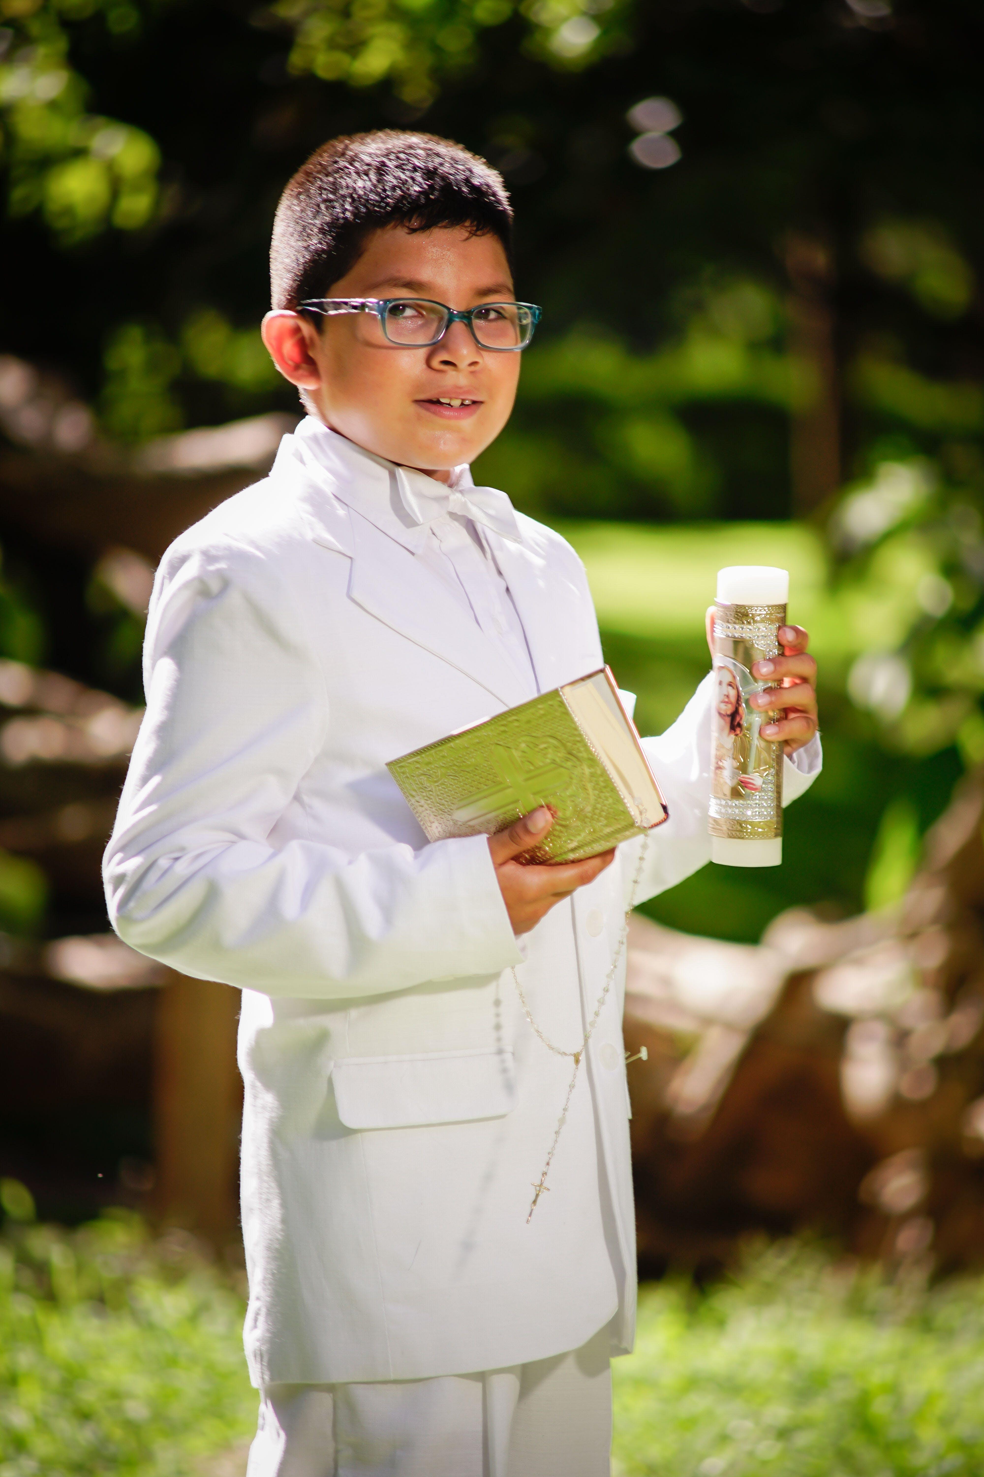
{"label": "boy's white suit jacket with notched lapels and flap pocket", "polygon": [[[316,422],[158,570],[148,710],[105,860],[134,948],[242,993],[254,1382],[463,1374],[631,1346],[624,970],[527,1224],[639,842],[521,944],[484,836],[428,845],[388,759],[525,699],[441,580],[351,504],[394,468]],[[583,566],[490,536],[540,690],[602,663]],[[636,901],[702,866],[710,699],[648,752],[670,806]],[[786,765],[789,798],[810,783]]]}

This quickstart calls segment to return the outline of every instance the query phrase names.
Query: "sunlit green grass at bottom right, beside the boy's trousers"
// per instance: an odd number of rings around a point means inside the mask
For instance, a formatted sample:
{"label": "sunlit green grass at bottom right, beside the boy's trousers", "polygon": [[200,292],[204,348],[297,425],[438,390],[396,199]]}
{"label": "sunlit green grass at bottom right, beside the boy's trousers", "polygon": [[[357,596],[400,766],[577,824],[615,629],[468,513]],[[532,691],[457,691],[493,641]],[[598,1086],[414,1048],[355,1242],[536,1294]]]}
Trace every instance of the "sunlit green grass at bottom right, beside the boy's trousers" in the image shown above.
{"label": "sunlit green grass at bottom right, beside the boy's trousers", "polygon": [[984,1282],[926,1289],[772,1247],[643,1291],[614,1363],[617,1477],[977,1477]]}

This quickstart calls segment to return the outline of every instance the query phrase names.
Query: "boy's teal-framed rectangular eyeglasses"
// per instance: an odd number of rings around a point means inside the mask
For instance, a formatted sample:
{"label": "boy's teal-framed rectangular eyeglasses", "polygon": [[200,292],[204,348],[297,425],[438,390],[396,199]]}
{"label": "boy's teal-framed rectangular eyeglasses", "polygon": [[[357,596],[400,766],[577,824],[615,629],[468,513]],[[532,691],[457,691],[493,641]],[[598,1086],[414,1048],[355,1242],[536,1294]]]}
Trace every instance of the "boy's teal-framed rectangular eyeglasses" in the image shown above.
{"label": "boy's teal-framed rectangular eyeglasses", "polygon": [[426,297],[317,297],[298,303],[299,313],[375,313],[385,338],[401,349],[438,344],[451,323],[468,323],[479,349],[512,353],[525,349],[540,322],[533,303],[479,303],[463,313]]}

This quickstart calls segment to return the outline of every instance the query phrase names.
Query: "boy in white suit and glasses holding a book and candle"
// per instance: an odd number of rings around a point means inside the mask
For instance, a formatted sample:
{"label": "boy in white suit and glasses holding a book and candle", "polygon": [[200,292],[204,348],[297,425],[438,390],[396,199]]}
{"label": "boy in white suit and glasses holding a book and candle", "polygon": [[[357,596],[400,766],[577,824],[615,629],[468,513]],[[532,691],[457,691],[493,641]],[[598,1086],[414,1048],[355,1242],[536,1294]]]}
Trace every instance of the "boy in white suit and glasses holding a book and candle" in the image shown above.
{"label": "boy in white suit and glasses holding a book and candle", "polygon": [[[620,939],[708,860],[708,682],[648,740],[671,818],[645,852],[521,866],[544,809],[426,845],[385,768],[602,665],[574,551],[468,473],[538,316],[510,227],[447,140],[308,160],[263,329],[308,418],[158,572],[106,895],[134,948],[243,991],[249,1477],[608,1473],[634,1316]],[[792,798],[819,749],[785,638],[763,733]]]}

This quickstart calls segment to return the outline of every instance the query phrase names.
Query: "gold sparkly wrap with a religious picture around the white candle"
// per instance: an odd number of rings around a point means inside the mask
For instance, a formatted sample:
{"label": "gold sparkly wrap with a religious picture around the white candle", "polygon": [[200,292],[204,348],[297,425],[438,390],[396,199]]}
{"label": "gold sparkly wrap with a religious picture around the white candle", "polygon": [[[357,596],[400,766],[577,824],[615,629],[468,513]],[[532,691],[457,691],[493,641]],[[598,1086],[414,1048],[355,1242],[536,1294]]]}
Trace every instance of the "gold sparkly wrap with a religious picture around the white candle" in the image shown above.
{"label": "gold sparkly wrap with a religious picture around the white candle", "polygon": [[783,746],[760,737],[776,713],[752,707],[749,699],[770,685],[751,669],[779,654],[779,626],[785,623],[785,606],[721,600],[714,606],[708,830],[711,857],[726,866],[775,867],[782,861]]}

